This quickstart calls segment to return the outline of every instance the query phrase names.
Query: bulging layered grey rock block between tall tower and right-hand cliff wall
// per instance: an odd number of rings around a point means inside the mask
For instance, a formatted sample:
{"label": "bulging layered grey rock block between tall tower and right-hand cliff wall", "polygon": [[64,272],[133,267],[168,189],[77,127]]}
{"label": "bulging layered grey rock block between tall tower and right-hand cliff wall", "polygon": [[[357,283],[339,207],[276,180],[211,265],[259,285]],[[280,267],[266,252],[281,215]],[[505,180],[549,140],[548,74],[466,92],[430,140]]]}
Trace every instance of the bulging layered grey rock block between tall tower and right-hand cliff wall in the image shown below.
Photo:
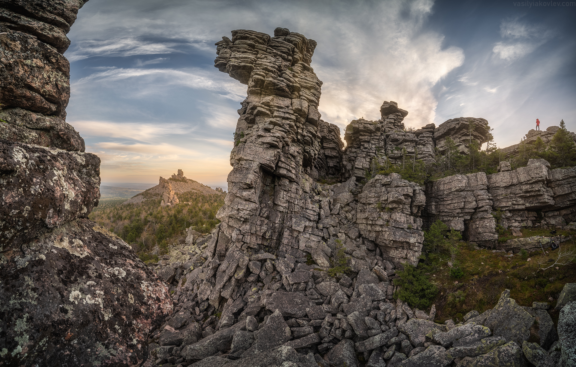
{"label": "bulging layered grey rock block between tall tower and right-hand cliff wall", "polygon": [[360,233],[376,242],[382,256],[396,266],[416,265],[424,240],[418,217],[425,200],[422,189],[399,174],[376,175],[358,196]]}

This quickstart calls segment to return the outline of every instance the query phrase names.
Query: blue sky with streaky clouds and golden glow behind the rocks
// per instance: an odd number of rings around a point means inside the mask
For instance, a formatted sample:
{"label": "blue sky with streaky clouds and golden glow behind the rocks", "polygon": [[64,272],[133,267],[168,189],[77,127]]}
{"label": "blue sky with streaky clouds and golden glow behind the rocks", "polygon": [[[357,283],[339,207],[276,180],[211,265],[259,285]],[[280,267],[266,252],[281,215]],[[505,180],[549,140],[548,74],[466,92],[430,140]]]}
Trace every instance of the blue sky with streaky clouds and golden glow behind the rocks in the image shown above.
{"label": "blue sky with streaky clouds and golden glow behind the rocks", "polygon": [[182,169],[226,190],[246,86],[214,68],[214,43],[283,27],[318,43],[319,111],[342,136],[393,100],[413,128],[485,118],[503,148],[536,118],[576,131],[575,18],[574,2],[90,0],[68,34],[67,122],[103,184]]}

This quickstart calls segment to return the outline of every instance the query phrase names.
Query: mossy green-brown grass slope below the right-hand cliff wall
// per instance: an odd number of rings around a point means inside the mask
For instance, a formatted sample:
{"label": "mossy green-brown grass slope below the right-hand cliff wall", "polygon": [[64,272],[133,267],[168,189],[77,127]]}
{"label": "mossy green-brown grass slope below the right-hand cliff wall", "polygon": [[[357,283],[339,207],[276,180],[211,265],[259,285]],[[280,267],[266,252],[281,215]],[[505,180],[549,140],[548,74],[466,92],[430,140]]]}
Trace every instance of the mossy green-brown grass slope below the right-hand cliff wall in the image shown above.
{"label": "mossy green-brown grass slope below the right-hand cliff wall", "polygon": [[[533,233],[539,231],[541,233],[542,230],[526,230],[529,234],[526,237],[538,235]],[[550,237],[550,230],[547,232]],[[573,238],[576,237],[576,233],[571,234]],[[494,253],[488,249],[475,250],[463,241],[458,243],[457,247],[456,261],[463,272],[461,278],[455,278],[455,268],[448,267],[448,254],[437,255],[437,267],[426,267],[431,272],[431,282],[439,289],[439,294],[433,300],[439,322],[452,318],[462,320],[462,315],[471,310],[482,313],[491,309],[505,289],[510,289],[510,297],[516,299],[521,306],[532,306],[535,301],[550,302],[554,306],[564,284],[576,282],[574,262],[558,265],[558,269],[540,269],[555,261],[558,249],[551,251],[548,247],[545,248],[548,253],[524,251],[514,254],[513,257],[505,257],[507,253]],[[561,244],[561,249],[570,251],[576,249],[576,245],[569,240]],[[550,297],[554,301],[548,301]]]}

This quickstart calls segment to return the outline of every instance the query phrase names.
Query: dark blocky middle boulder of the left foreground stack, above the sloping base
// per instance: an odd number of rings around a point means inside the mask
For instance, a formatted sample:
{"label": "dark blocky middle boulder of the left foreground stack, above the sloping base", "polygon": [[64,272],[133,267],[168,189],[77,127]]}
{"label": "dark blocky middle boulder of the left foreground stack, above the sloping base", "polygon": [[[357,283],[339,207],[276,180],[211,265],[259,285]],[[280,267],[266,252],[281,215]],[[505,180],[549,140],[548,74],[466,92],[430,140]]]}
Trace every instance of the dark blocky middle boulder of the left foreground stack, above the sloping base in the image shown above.
{"label": "dark blocky middle boulder of the left foreground stack, above the sloping base", "polygon": [[100,158],[0,141],[0,245],[18,249],[76,218],[86,218],[100,199]]}

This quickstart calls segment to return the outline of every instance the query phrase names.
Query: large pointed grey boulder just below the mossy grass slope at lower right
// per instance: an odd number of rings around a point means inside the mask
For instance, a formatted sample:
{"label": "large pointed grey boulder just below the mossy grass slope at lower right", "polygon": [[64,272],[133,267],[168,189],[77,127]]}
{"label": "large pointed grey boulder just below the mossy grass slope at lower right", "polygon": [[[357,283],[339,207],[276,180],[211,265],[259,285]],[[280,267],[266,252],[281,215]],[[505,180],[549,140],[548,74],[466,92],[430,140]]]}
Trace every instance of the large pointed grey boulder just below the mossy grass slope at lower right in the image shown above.
{"label": "large pointed grey boulder just below the mossy grass slope at lower right", "polygon": [[506,340],[520,344],[530,338],[530,327],[534,320],[535,317],[510,298],[510,290],[505,290],[484,326],[492,330],[492,335],[503,336]]}

